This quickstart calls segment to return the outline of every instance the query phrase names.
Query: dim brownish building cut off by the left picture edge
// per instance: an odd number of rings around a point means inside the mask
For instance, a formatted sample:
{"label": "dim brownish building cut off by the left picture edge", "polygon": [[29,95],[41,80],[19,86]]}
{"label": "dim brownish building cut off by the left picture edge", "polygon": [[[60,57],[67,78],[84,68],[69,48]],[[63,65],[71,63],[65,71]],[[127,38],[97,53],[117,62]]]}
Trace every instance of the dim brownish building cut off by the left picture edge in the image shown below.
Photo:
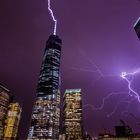
{"label": "dim brownish building cut off by the left picture edge", "polygon": [[9,90],[0,84],[0,139],[3,139],[5,118],[9,105]]}

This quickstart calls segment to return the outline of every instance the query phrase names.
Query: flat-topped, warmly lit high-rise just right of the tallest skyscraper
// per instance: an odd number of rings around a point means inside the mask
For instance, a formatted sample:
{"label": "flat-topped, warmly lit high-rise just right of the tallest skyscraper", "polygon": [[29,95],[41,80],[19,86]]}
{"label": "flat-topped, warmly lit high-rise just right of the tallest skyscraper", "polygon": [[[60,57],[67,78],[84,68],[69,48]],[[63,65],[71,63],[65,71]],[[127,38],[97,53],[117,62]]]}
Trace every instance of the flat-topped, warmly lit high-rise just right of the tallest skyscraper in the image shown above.
{"label": "flat-topped, warmly lit high-rise just right of the tallest skyscraper", "polygon": [[81,89],[66,89],[63,97],[66,140],[83,139]]}

